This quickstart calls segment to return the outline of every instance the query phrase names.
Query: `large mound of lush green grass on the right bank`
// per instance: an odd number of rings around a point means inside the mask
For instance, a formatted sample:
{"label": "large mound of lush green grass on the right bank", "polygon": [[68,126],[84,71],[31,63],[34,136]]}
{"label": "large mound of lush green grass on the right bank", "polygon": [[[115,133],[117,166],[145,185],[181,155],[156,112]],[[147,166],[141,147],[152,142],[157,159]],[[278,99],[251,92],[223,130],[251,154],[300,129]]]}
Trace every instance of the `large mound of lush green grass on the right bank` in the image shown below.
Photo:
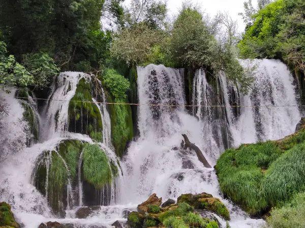
{"label": "large mound of lush green grass on the right bank", "polygon": [[227,150],[216,166],[221,190],[251,214],[289,200],[304,186],[304,133]]}

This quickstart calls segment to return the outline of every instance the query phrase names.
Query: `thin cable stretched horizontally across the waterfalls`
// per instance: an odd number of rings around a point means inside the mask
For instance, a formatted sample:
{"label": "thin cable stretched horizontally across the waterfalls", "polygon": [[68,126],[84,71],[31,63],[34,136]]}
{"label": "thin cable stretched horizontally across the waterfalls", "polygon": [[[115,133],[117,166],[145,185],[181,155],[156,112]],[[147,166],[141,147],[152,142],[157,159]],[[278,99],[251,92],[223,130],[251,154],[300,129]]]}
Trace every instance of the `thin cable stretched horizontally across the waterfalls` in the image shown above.
{"label": "thin cable stretched horizontally across the waterfalls", "polygon": [[[28,99],[27,97],[15,97],[18,99]],[[185,104],[134,104],[134,103],[111,103],[111,102],[94,102],[94,101],[71,101],[47,98],[32,98],[33,100],[44,101],[64,101],[77,103],[94,103],[94,104],[114,104],[114,105],[146,105],[146,106],[169,106],[169,107],[305,107],[305,105],[185,105]]]}

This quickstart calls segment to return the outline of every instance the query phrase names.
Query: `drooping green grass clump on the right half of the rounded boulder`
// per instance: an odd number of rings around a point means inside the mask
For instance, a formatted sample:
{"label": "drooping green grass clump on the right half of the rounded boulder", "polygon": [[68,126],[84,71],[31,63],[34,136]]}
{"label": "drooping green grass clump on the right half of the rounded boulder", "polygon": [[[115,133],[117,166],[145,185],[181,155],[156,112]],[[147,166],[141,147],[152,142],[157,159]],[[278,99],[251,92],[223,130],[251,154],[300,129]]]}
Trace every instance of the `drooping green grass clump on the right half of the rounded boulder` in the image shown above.
{"label": "drooping green grass clump on the right half of the rounded boulder", "polygon": [[85,144],[83,149],[84,179],[96,188],[103,188],[112,180],[107,155],[99,145]]}

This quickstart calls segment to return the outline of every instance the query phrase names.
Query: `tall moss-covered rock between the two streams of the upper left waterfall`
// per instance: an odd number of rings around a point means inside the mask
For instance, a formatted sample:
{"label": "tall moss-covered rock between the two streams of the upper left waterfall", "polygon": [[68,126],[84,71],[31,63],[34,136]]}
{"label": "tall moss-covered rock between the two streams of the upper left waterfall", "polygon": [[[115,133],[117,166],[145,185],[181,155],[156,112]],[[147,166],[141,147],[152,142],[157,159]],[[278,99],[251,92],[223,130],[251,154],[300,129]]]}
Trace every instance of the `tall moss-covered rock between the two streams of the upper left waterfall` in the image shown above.
{"label": "tall moss-covered rock between the two streams of the upper left waterfall", "polygon": [[101,113],[93,102],[90,83],[85,78],[79,80],[69,103],[69,131],[89,135],[97,141],[103,140]]}

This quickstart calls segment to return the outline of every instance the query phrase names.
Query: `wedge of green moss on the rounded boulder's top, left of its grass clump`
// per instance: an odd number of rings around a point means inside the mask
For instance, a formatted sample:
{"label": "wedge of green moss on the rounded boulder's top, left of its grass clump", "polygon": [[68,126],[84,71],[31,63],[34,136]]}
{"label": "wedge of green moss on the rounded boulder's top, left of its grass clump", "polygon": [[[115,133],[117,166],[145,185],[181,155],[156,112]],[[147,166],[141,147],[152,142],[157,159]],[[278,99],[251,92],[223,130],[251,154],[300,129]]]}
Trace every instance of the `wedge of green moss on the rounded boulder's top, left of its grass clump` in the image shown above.
{"label": "wedge of green moss on the rounded boulder's top, left of its grass clump", "polygon": [[58,146],[58,153],[65,159],[72,180],[77,177],[78,160],[82,148],[83,144],[78,140],[64,140]]}

